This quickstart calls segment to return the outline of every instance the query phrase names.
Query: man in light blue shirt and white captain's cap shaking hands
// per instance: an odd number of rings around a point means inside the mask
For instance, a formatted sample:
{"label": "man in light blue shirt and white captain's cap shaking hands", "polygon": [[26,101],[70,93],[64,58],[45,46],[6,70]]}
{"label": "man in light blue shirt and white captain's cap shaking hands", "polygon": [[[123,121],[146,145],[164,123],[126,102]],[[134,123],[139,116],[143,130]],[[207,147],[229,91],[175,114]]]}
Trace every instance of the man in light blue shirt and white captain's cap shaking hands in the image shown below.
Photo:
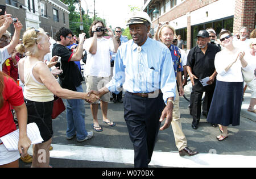
{"label": "man in light blue shirt and white captain's cap shaking hands", "polygon": [[90,93],[118,93],[121,86],[126,90],[124,118],[134,145],[134,166],[143,168],[150,163],[159,128],[170,127],[176,79],[170,50],[147,37],[151,26],[148,14],[135,11],[127,22],[133,40],[118,48],[112,80]]}

